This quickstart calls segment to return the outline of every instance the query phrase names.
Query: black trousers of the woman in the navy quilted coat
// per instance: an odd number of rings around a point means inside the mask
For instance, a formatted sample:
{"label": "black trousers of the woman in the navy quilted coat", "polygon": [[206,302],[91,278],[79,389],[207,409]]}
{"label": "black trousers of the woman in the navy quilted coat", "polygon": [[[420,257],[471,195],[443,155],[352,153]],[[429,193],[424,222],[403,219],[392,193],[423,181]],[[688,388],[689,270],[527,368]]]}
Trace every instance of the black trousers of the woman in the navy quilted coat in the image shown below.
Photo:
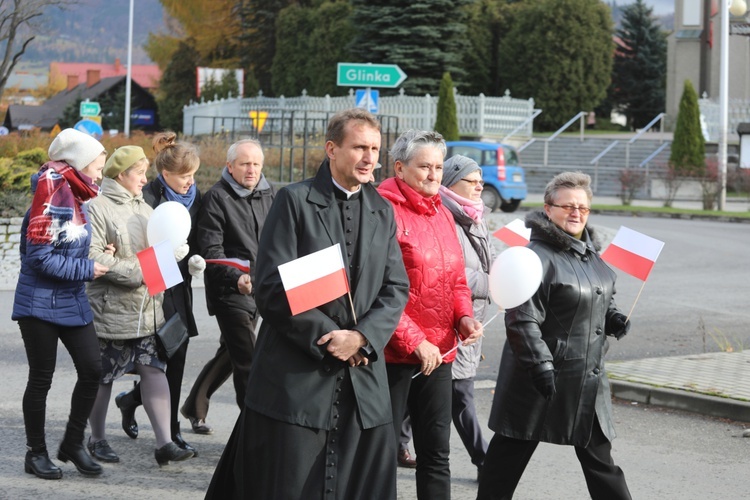
{"label": "black trousers of the woman in the navy quilted coat", "polygon": [[70,399],[65,439],[71,443],[82,443],[102,376],[102,359],[94,324],[66,327],[36,318],[23,318],[18,321],[18,325],[29,362],[29,379],[23,395],[27,446],[34,450],[46,447],[44,421],[47,394],[57,364],[58,339],[68,350],[78,375]]}

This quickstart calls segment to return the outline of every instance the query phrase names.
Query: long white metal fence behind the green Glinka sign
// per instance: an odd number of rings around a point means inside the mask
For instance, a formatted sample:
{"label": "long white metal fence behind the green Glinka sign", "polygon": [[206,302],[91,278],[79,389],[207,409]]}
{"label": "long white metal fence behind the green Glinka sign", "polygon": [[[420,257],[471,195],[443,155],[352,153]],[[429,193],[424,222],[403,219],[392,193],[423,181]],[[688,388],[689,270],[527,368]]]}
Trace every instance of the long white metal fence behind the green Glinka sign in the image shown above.
{"label": "long white metal fence behind the green Glinka sign", "polygon": [[[515,134],[531,137],[533,134],[533,99],[515,99],[505,91],[503,97],[464,96],[456,94],[458,129],[462,135],[500,138],[524,124]],[[253,133],[252,111],[265,111],[273,121],[282,110],[307,112],[308,118],[325,118],[326,115],[355,105],[354,90],[348,96],[313,97],[303,91],[299,97],[264,97],[218,99],[191,103],[183,108],[183,133],[205,135],[219,132]],[[380,97],[379,114],[398,118],[398,132],[410,128],[431,130],[435,124],[438,98],[429,94],[407,96],[403,89],[397,96]],[[303,119],[303,113],[298,113]]]}

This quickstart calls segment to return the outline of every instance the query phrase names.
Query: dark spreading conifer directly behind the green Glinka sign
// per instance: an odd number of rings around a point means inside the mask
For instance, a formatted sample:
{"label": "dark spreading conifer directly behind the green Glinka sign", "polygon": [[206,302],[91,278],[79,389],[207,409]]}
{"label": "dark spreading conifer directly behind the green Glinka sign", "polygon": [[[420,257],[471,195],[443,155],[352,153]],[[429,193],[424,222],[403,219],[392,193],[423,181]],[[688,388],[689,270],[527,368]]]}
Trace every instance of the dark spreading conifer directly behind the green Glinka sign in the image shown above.
{"label": "dark spreading conifer directly behind the green Glinka sign", "polygon": [[465,72],[465,11],[471,0],[352,0],[357,35],[352,62],[398,64],[410,94],[435,94],[450,72],[461,86]]}

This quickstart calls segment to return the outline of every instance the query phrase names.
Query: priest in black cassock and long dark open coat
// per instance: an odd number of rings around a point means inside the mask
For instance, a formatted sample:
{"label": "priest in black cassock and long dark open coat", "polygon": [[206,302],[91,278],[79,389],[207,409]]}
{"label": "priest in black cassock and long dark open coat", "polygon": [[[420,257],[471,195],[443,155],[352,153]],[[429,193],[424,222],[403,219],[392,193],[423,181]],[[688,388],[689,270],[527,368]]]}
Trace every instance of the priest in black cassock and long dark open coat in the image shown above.
{"label": "priest in black cassock and long dark open coat", "polygon": [[[207,499],[395,499],[396,441],[383,349],[409,279],[393,209],[369,184],[380,124],[328,124],[317,175],[281,189],[258,248],[263,323],[242,410]],[[348,295],[292,316],[278,266],[341,245]],[[353,310],[352,310],[353,309]]]}

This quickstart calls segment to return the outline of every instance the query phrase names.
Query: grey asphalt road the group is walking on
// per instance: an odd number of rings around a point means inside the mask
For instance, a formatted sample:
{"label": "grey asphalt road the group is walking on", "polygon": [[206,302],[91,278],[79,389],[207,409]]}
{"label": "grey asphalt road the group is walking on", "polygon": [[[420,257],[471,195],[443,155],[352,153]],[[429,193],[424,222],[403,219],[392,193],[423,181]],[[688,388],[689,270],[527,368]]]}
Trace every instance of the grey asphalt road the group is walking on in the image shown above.
{"label": "grey asphalt road the group is walking on", "polygon": [[[507,220],[523,212],[507,214]],[[495,218],[495,215],[493,215]],[[495,224],[502,221],[497,220]],[[620,225],[666,242],[654,271],[633,312],[634,326],[621,342],[614,342],[610,359],[636,359],[703,352],[699,322],[707,331],[721,331],[750,345],[747,325],[748,266],[746,225],[669,219],[622,218],[592,215],[591,223],[611,238]],[[499,226],[497,226],[499,227]],[[618,280],[618,301],[629,309],[641,282],[629,276]],[[159,468],[153,458],[154,440],[145,412],[139,410],[141,436],[131,440],[119,427],[119,412],[110,403],[107,432],[120,454],[119,464],[105,464],[102,477],[82,477],[70,464],[60,464],[60,481],[43,481],[23,472],[25,437],[21,399],[27,366],[17,325],[10,321],[13,293],[0,291],[0,499],[200,499],[236,420],[238,409],[231,385],[225,384],[212,401],[212,436],[185,438],[200,456]],[[202,363],[218,345],[213,318],[206,314],[202,289],[196,289],[196,313],[201,335],[191,341],[183,397]],[[504,342],[502,315],[488,328],[486,359],[478,376],[477,408],[486,423]],[[706,340],[708,350],[718,344]],[[131,386],[133,378],[115,383],[114,394]],[[75,373],[64,348],[48,401],[48,446],[54,452],[64,431]],[[750,491],[750,439],[741,437],[745,425],[667,411],[655,407],[615,403],[618,438],[613,454],[624,469],[634,498],[719,500],[747,498]],[[491,432],[485,428],[487,436]],[[451,438],[453,498],[476,496],[476,471],[458,437]],[[399,469],[399,498],[416,498],[413,471]],[[517,490],[518,500],[588,498],[572,448],[540,445]]]}

